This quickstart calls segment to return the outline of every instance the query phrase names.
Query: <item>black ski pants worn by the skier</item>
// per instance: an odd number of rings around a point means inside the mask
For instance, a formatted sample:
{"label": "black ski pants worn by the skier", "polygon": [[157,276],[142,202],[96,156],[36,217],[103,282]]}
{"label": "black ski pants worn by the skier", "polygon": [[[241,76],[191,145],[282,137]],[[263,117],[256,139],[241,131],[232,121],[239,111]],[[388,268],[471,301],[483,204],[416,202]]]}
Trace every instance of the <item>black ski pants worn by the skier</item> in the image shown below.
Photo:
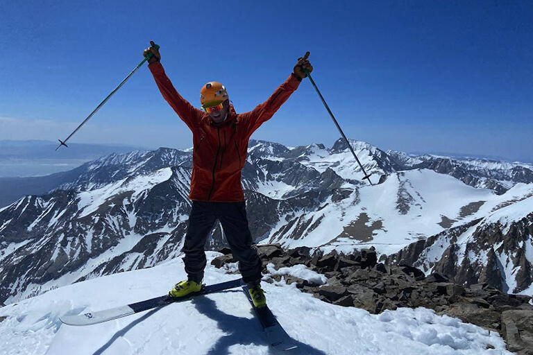
{"label": "black ski pants worn by the skier", "polygon": [[262,263],[257,251],[251,247],[252,235],[248,229],[245,202],[192,201],[189,226],[183,252],[185,272],[189,279],[201,282],[205,268],[205,241],[216,220],[220,220],[233,257],[239,261],[239,271],[247,283],[258,282]]}

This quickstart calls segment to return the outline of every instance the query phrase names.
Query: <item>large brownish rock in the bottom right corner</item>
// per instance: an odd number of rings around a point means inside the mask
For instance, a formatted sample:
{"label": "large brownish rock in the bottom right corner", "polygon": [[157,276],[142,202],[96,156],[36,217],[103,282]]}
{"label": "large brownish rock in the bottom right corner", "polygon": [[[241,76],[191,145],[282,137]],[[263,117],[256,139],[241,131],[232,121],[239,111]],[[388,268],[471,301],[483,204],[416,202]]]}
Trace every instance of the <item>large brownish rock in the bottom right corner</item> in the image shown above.
{"label": "large brownish rock in the bottom right corner", "polygon": [[503,311],[502,334],[510,352],[533,354],[533,311]]}

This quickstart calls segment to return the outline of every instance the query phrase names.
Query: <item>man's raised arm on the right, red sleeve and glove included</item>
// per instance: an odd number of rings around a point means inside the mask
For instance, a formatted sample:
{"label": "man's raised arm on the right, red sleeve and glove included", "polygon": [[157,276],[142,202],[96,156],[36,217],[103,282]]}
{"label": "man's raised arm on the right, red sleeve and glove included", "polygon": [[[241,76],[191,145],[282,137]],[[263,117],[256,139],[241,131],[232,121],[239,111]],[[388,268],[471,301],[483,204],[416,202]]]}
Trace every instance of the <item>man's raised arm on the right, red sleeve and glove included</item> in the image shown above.
{"label": "man's raised arm on the right, red sleeve and glove included", "polygon": [[255,109],[253,109],[251,112],[246,112],[245,114],[241,115],[242,123],[246,127],[248,135],[252,135],[252,133],[257,130],[257,128],[259,128],[263,122],[271,119],[273,114],[275,114],[281,105],[287,101],[287,98],[289,98],[289,96],[291,96],[291,94],[298,89],[302,79],[307,76],[305,70],[307,70],[308,73],[313,70],[313,67],[311,67],[311,64],[307,60],[308,56],[309,52],[305,53],[305,56],[298,60],[296,66],[294,67],[294,72],[291,73],[287,80],[285,80],[285,83],[282,83],[282,85],[276,89],[276,91],[268,98],[267,101],[257,105],[257,107],[255,107]]}

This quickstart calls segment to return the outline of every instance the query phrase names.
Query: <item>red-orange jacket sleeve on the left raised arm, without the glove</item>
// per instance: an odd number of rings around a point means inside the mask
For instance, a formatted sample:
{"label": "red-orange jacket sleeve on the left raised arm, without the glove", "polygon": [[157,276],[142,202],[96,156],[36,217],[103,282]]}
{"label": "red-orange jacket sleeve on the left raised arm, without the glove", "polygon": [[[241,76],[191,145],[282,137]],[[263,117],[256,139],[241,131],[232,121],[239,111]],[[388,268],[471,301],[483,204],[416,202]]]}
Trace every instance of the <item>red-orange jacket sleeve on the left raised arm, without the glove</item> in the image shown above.
{"label": "red-orange jacket sleeve on the left raised arm, without the glove", "polygon": [[198,110],[189,101],[185,100],[174,88],[169,77],[164,73],[163,66],[160,62],[149,64],[155,83],[167,103],[176,111],[180,119],[187,124],[190,130],[194,131],[197,123],[200,121],[203,112]]}

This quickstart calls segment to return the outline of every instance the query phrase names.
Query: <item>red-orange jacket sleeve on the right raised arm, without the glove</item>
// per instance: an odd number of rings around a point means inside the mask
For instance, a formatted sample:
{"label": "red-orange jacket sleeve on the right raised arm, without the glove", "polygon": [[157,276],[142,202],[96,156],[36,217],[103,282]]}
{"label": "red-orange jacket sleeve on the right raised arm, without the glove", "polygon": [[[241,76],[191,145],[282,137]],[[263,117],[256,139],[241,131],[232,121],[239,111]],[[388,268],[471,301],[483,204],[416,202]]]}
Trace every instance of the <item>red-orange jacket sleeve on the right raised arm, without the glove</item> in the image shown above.
{"label": "red-orange jacket sleeve on the right raised arm, without the glove", "polygon": [[241,114],[242,124],[246,127],[248,135],[257,130],[264,121],[268,121],[278,111],[287,98],[298,89],[300,82],[292,74],[276,89],[276,91],[264,103],[257,105],[250,112]]}

